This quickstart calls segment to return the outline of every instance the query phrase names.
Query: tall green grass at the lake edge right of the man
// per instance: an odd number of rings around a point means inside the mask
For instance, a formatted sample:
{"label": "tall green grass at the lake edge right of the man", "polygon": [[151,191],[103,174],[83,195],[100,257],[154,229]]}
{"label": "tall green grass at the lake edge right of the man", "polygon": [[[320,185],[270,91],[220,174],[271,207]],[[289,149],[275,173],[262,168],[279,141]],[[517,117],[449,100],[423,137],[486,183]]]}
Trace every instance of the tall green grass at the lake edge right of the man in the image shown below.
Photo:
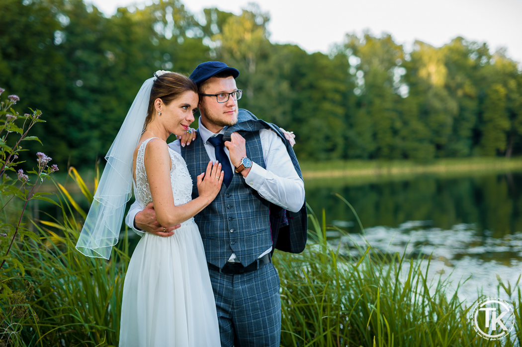
{"label": "tall green grass at the lake edge right of the man", "polygon": [[483,297],[466,306],[458,288],[447,292],[448,279],[430,280],[430,258],[382,254],[355,242],[351,251],[341,243],[333,247],[326,240],[324,211],[322,223],[313,214],[310,220],[313,241],[306,250],[274,257],[282,290],[282,346],[520,345],[520,288],[512,302],[517,314],[511,338],[490,341],[470,324],[473,306]]}

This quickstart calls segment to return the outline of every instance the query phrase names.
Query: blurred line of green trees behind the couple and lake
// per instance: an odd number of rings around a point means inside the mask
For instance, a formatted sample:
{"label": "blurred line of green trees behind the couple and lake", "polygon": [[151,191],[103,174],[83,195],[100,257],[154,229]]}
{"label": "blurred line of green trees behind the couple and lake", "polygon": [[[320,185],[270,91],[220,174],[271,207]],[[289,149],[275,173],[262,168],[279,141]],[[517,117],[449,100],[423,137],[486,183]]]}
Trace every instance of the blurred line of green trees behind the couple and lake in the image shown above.
{"label": "blurred line of green trees behind the couple and lake", "polygon": [[328,54],[269,40],[255,4],[189,13],[179,0],[119,8],[82,0],[0,3],[0,87],[46,120],[27,145],[59,165],[102,157],[141,83],[206,60],[241,71],[240,107],[296,134],[301,160],[522,153],[522,69],[505,51],[457,37],[411,51],[389,34],[347,34]]}

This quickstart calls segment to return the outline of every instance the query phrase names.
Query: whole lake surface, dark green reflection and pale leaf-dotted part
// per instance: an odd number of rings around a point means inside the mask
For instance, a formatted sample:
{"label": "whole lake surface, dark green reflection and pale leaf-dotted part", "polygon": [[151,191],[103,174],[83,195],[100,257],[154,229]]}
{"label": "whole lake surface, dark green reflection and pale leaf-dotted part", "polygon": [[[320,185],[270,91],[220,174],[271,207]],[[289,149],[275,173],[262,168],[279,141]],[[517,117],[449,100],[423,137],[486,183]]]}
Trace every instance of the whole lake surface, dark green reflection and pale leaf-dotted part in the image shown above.
{"label": "whole lake surface, dark green reflection and pale leaf-dotted part", "polygon": [[[508,300],[497,290],[499,276],[507,285],[522,270],[522,173],[350,183],[342,179],[305,181],[307,203],[327,225],[350,233],[328,232],[333,244],[346,249],[367,240],[384,253],[406,251],[413,257],[433,254],[429,276],[449,276],[453,293],[474,301],[487,296]],[[364,234],[343,196],[358,213]],[[516,293],[515,293],[516,295]]]}

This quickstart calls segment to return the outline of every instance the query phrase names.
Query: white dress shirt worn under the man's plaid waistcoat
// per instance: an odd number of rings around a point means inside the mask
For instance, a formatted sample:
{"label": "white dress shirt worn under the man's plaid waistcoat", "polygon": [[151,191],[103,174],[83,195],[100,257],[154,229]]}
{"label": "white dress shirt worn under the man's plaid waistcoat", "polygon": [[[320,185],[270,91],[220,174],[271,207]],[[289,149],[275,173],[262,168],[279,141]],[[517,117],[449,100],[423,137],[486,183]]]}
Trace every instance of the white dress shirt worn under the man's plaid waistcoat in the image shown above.
{"label": "white dress shirt worn under the man's plaid waistcoat", "polygon": [[[226,130],[227,127],[223,128],[219,134],[224,133]],[[197,135],[203,140],[208,157],[212,162],[215,162],[215,149],[207,140],[218,134],[205,128],[203,123],[201,123],[201,117],[199,118]],[[250,172],[244,178],[246,183],[269,202],[291,212],[299,212],[304,203],[304,182],[295,171],[286,146],[279,135],[271,129],[259,130],[259,137],[263,148],[266,169],[256,163],[252,163]],[[181,143],[179,140],[171,142],[169,147],[181,154]],[[229,151],[226,147],[224,151],[230,159]],[[232,167],[232,172],[234,172],[235,167],[232,164],[230,166]],[[125,218],[125,224],[141,236],[144,232],[134,228],[134,218],[140,211],[141,207],[137,202],[134,202]],[[259,257],[269,253],[271,250],[272,247],[259,255]],[[229,261],[234,261],[234,259],[235,254],[232,253]]]}

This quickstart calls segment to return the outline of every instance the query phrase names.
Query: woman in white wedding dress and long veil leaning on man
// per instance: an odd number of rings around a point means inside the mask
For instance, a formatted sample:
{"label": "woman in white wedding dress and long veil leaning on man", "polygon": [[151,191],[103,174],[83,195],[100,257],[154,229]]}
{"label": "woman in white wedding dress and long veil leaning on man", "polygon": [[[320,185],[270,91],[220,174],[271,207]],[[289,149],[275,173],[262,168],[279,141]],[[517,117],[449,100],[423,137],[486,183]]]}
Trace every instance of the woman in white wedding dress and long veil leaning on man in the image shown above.
{"label": "woman in white wedding dress and long veil leaning on man", "polygon": [[120,346],[218,346],[216,304],[193,216],[215,199],[223,172],[209,162],[192,200],[186,164],[165,140],[194,121],[197,87],[179,73],[155,76],[141,86],[106,156],[76,249],[109,258],[134,185],[136,201],[141,208],[152,202],[161,226],[181,227],[168,238],[145,233],[139,240],[123,286]]}

